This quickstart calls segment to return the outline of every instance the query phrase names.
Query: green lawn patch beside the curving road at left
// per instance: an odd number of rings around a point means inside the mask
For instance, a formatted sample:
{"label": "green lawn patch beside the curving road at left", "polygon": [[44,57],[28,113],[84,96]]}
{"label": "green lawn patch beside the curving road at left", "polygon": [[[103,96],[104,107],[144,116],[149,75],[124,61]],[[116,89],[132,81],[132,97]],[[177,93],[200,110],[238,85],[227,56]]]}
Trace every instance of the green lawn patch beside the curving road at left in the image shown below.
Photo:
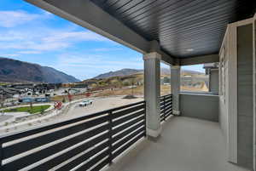
{"label": "green lawn patch beside the curving road at left", "polygon": [[49,108],[50,105],[34,105],[32,109],[30,106],[17,107],[13,109],[4,110],[4,112],[29,112],[31,114],[45,111]]}

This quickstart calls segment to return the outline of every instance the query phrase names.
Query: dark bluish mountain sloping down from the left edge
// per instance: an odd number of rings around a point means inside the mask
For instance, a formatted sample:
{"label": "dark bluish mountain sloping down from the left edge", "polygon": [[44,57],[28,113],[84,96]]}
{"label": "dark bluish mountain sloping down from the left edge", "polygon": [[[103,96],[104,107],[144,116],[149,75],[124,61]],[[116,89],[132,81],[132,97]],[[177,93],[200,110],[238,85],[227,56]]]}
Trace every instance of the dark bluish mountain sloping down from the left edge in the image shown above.
{"label": "dark bluish mountain sloping down from the left edge", "polygon": [[48,66],[0,57],[0,82],[73,83],[79,79]]}

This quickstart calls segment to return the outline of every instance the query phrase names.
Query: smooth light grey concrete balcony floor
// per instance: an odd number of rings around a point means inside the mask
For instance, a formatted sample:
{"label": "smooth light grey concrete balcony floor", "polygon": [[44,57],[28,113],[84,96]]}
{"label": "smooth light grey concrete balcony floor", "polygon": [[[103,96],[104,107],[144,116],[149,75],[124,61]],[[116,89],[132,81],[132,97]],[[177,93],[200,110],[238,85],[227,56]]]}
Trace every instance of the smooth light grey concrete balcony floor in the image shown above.
{"label": "smooth light grey concrete balcony floor", "polygon": [[247,171],[226,162],[224,136],[218,123],[172,117],[156,142],[143,140],[113,163],[114,171]]}

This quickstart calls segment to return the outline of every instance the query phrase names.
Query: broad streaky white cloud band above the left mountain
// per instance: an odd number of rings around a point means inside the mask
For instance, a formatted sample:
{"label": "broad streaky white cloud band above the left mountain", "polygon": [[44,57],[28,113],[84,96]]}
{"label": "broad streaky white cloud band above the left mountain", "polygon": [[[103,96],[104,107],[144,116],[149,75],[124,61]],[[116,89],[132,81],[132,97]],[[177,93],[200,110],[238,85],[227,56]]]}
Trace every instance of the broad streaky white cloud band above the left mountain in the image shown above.
{"label": "broad streaky white cloud band above the left mountain", "polygon": [[63,31],[49,28],[38,28],[36,31],[22,31],[19,29],[0,31],[0,49],[55,51],[85,41],[110,43],[110,40],[92,31]]}

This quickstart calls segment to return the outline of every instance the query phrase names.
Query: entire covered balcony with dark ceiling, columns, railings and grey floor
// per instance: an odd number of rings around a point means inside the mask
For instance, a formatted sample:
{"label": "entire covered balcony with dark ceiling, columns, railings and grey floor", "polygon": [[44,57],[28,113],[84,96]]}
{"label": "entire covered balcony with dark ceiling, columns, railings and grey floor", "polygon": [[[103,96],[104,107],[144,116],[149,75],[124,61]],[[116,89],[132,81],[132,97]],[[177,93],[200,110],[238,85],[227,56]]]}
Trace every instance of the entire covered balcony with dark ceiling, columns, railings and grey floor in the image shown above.
{"label": "entire covered balcony with dark ceiling, columns, railings and grey floor", "polygon": [[[253,3],[26,1],[142,53],[145,101],[6,135],[0,170],[256,170]],[[180,94],[180,67],[212,62],[219,95]]]}

